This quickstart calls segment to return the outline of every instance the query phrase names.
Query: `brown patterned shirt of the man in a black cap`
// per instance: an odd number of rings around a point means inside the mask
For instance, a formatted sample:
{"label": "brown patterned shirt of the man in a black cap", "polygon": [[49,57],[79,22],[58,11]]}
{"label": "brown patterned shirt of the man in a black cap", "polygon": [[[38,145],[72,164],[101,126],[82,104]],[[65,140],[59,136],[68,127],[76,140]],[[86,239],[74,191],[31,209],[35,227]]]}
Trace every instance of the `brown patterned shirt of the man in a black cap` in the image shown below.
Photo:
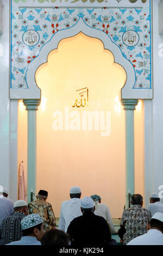
{"label": "brown patterned shirt of the man in a black cap", "polygon": [[43,218],[45,223],[45,230],[56,225],[55,215],[52,209],[52,205],[45,202],[43,199],[37,199],[36,201],[28,204],[29,214],[39,214]]}

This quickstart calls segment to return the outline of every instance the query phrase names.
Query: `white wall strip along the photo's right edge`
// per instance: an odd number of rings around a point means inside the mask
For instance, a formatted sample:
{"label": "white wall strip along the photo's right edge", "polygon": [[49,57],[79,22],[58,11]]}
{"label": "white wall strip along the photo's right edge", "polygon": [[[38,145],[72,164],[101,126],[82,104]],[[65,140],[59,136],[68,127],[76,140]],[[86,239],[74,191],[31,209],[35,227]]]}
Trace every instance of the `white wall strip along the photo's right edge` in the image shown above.
{"label": "white wall strip along the photo's right edge", "polygon": [[153,178],[156,192],[159,192],[158,187],[163,185],[163,56],[159,56],[159,45],[163,44],[163,35],[158,33],[159,2],[160,0],[153,1]]}

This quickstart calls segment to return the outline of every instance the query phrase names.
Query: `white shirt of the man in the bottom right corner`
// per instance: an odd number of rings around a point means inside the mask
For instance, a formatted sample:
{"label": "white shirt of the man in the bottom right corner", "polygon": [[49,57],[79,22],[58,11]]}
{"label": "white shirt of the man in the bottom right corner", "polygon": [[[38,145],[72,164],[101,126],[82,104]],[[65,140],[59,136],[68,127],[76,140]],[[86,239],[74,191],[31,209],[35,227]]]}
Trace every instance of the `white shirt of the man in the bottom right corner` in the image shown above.
{"label": "white shirt of the man in the bottom right corner", "polygon": [[127,245],[163,245],[163,234],[157,229],[149,229],[148,233],[135,237]]}

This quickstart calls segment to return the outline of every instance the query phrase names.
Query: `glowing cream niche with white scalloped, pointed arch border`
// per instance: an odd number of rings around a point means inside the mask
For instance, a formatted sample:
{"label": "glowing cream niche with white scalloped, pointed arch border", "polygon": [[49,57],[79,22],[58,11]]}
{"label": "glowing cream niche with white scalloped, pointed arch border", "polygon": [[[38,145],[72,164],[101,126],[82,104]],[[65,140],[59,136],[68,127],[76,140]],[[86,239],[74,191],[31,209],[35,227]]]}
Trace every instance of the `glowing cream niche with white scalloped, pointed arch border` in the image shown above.
{"label": "glowing cream niche with white scalloped, pointed arch border", "polygon": [[[125,118],[120,95],[122,87],[132,88],[135,83],[133,66],[108,35],[80,19],[42,47],[29,66],[27,83],[41,89],[36,191],[48,190],[57,217],[72,186],[82,188],[82,197],[99,194],[112,216],[121,217],[125,204]],[[88,106],[72,107],[76,91],[83,88],[89,90]],[[82,119],[83,112],[89,111],[96,111],[92,127],[88,122],[85,126],[86,119]],[[19,116],[22,120],[23,112]],[[141,111],[137,111],[136,120],[135,136],[140,137]],[[139,159],[135,191],[143,193],[143,184],[138,181],[143,175],[140,144],[135,145],[135,154]]]}

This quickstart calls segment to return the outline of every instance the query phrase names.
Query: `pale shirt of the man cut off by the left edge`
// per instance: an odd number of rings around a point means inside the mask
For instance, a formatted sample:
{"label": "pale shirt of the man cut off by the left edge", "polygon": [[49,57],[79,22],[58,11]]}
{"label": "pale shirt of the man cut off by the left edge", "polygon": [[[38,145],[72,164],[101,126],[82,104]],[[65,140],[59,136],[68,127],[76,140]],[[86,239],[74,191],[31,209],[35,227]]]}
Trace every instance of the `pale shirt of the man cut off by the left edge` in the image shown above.
{"label": "pale shirt of the man cut off by the left edge", "polygon": [[13,214],[13,212],[14,212],[14,202],[11,199],[1,195],[1,197],[0,197],[0,224],[4,218],[10,216],[11,214]]}

